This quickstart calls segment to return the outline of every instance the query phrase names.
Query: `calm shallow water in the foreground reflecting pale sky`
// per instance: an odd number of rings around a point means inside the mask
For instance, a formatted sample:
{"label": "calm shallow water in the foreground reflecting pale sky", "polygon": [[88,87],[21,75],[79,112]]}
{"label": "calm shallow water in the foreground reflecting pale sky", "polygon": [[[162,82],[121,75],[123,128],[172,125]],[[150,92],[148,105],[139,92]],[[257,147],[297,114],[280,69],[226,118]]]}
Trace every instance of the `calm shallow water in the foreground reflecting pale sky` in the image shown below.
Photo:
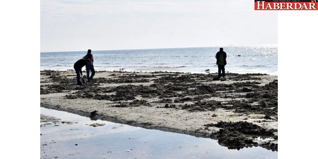
{"label": "calm shallow water in the foreground reflecting pale sky", "polygon": [[[46,108],[41,108],[41,114],[61,119],[41,127],[41,158],[277,158],[277,151],[262,147],[228,149],[208,138],[91,120]],[[105,125],[90,126],[93,123]]]}

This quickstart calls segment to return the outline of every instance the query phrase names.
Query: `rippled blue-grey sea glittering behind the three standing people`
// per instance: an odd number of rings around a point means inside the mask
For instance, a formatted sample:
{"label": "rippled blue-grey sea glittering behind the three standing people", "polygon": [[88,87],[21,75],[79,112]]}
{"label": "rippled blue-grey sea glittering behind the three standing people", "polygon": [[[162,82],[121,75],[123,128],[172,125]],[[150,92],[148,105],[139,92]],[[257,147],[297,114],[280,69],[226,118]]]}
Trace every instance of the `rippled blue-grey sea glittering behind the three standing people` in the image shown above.
{"label": "rippled blue-grey sea glittering behind the three standing people", "polygon": [[[216,73],[215,54],[220,47],[192,47],[134,50],[94,50],[95,71]],[[278,75],[277,45],[223,47],[226,73]],[[83,51],[41,52],[40,70],[73,70]],[[84,70],[85,67],[82,68]]]}

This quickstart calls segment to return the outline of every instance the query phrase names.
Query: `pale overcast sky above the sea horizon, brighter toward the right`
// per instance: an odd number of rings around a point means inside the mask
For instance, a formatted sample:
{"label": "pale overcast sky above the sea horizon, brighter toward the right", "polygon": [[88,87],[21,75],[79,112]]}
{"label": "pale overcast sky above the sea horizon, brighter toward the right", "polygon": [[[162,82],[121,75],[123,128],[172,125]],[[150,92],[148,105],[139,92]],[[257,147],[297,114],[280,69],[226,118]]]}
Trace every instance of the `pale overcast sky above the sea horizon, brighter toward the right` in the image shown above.
{"label": "pale overcast sky above the sea horizon, brighter toward the right", "polygon": [[41,52],[277,44],[250,0],[41,0]]}

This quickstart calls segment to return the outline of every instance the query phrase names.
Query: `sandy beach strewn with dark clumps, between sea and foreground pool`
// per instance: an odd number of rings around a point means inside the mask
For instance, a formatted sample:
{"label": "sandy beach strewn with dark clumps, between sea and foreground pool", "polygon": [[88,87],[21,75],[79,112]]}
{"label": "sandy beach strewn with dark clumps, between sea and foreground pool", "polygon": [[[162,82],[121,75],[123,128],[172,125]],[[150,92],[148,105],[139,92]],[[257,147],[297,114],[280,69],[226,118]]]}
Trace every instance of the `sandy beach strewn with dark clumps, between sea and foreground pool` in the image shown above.
{"label": "sandy beach strewn with dark clumps, between sea and foreground pool", "polygon": [[217,139],[228,148],[278,150],[277,76],[96,72],[93,82],[78,86],[72,71],[40,74],[41,107]]}

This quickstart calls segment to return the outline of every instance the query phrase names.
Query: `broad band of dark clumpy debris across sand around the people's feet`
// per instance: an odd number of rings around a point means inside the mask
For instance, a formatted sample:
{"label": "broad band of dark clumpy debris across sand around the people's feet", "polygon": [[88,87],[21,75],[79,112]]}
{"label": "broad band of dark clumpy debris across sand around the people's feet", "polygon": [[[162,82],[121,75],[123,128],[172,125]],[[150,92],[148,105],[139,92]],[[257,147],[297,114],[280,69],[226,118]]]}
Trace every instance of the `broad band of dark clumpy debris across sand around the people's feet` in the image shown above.
{"label": "broad band of dark clumpy debris across sand around the people's feet", "polygon": [[[72,77],[61,76],[59,71],[41,71],[41,74],[46,75],[49,82],[52,83],[41,86],[41,94],[77,90],[66,95],[66,99],[89,98],[112,102],[122,101],[126,102],[127,106],[125,107],[135,107],[138,104],[152,106],[149,102],[147,102],[148,104],[136,103],[136,97],[139,97],[143,99],[158,99],[152,103],[174,103],[176,107],[172,108],[185,109],[190,112],[224,108],[234,110],[237,113],[277,115],[278,81],[274,80],[263,86],[260,85],[261,81],[259,81],[258,76],[266,74],[229,73],[227,74],[227,80],[235,82],[225,84],[211,83],[212,78],[216,74],[154,72],[150,75],[142,75],[138,73],[122,73],[120,75],[113,74],[112,76],[116,78],[111,79],[95,78],[94,82],[82,86],[74,83],[76,81],[75,73]],[[248,80],[236,82],[239,79]],[[254,81],[251,82],[251,80]],[[210,81],[210,83],[206,84],[207,81]],[[149,86],[130,84],[139,82],[152,82],[153,84]],[[100,87],[101,84],[107,83],[126,83],[126,85]],[[229,100],[224,102],[210,100],[217,97]],[[121,107],[124,107],[124,104]]]}

